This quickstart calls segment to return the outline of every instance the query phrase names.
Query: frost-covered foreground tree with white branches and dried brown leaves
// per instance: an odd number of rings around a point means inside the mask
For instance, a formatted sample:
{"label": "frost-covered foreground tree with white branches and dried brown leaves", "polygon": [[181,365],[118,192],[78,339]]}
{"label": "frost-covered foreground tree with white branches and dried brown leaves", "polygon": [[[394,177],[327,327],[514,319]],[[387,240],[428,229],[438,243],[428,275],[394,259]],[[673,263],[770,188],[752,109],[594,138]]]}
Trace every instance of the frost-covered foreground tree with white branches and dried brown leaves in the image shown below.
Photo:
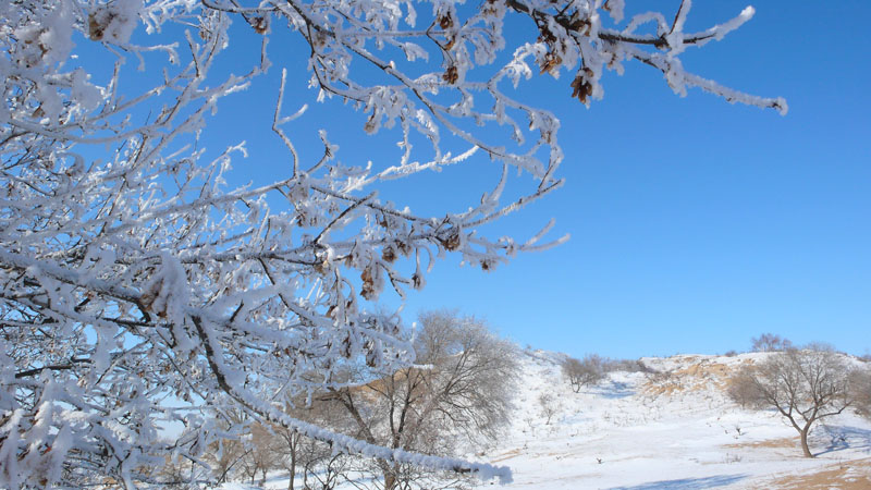
{"label": "frost-covered foreground tree with white branches and dried brown leaves", "polygon": [[[347,363],[394,372],[415,359],[400,318],[373,305],[385,289],[424,287],[446,253],[491,270],[563,240],[542,243],[550,224],[519,242],[479,230],[562,185],[559,121],[518,88],[536,72],[568,74],[566,96],[589,105],[605,71],[639,61],[677,94],[786,111],[680,63],[751,8],[701,32],[684,28],[689,0],[674,9],[624,19],[623,0],[0,2],[0,487],[159,483],[147,469],[168,455],[196,463],[192,480],[211,478],[200,463],[231,409],[338,453],[510,479],[282,407],[341,391],[331,375]],[[528,37],[503,33],[510,16]],[[289,45],[267,49],[273,37]],[[234,57],[252,38],[259,56]],[[300,50],[307,70],[267,73]],[[214,70],[222,57],[233,74]],[[291,99],[289,74],[315,90]],[[232,188],[231,162],[249,150],[225,134],[225,149],[205,148],[208,117],[278,75],[263,128],[286,146],[287,171]],[[319,158],[300,156],[285,130],[315,97],[361,111],[368,133],[392,132],[396,160],[339,161],[326,130],[345,131],[341,117],[315,136]],[[471,206],[422,215],[378,196],[385,181],[478,159],[501,176],[476,183]],[[165,442],[169,422],[184,430]]]}

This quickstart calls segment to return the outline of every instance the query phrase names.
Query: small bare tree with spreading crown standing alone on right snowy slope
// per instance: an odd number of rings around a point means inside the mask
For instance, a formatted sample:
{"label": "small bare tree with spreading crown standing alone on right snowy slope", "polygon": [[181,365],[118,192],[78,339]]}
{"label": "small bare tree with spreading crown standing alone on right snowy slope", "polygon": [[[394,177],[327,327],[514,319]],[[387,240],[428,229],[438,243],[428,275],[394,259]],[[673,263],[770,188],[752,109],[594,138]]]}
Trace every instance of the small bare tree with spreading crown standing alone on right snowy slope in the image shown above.
{"label": "small bare tree with spreading crown standing alone on right snowy slope", "polygon": [[814,422],[854,403],[850,381],[844,356],[815,345],[774,353],[743,368],[732,379],[729,394],[741,405],[775,408],[798,431],[805,456],[813,457],[808,434]]}

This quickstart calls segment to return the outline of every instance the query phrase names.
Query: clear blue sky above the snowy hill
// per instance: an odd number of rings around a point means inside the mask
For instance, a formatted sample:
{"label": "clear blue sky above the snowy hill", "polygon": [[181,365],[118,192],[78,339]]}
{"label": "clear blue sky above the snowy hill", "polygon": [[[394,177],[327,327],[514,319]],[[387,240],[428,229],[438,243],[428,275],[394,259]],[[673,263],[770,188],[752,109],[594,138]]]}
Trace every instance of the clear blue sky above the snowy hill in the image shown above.
{"label": "clear blue sky above the snowy hill", "polygon": [[[688,29],[723,22],[747,4],[694,3]],[[623,76],[606,75],[605,98],[590,109],[571,99],[565,75],[528,84],[530,99],[562,120],[567,182],[490,232],[524,238],[553,217],[553,237],[572,240],[489,273],[444,260],[412,295],[406,316],[459,308],[520,344],[576,356],[741,351],[762,332],[855,354],[871,350],[871,2],[755,7],[750,23],[687,52],[684,63],[741,90],[784,96],[788,115],[698,90],[679,98],[661,74],[633,63]],[[282,65],[297,77],[285,112],[311,106],[289,127],[304,158],[319,151],[312,130],[327,127],[346,163],[393,162],[395,135],[366,138],[363,113],[314,102],[302,44],[275,39],[270,52],[279,70],[253,87],[258,102],[252,93],[225,100],[209,130],[218,135],[216,150],[248,142],[252,156],[234,166],[241,181],[287,169],[268,124],[245,122],[271,118]],[[479,195],[492,175],[486,162],[474,163],[393,192],[437,209],[463,203],[455,194]]]}

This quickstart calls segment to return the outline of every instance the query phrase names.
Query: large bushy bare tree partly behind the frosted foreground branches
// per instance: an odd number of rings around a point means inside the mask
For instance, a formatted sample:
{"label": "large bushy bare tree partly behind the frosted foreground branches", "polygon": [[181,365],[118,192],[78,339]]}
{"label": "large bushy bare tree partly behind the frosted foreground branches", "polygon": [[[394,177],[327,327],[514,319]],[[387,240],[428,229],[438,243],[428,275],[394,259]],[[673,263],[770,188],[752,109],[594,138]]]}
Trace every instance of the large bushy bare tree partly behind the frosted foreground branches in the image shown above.
{"label": "large bushy bare tree partly behind the frosted foreground branches", "polygon": [[[452,311],[425,313],[419,322],[415,366],[357,388],[333,390],[323,400],[339,402],[356,424],[358,437],[373,444],[449,456],[459,444],[492,441],[508,419],[516,347],[482,321]],[[376,467],[387,490],[441,477],[383,460]]]}

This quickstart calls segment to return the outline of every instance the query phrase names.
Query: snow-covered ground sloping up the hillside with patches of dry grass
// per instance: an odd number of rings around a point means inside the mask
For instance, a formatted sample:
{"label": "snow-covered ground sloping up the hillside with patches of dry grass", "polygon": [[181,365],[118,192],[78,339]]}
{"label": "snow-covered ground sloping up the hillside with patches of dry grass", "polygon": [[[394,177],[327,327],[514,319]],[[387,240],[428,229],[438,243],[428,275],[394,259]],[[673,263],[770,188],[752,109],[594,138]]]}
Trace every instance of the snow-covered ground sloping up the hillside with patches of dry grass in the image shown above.
{"label": "snow-covered ground sloping up the hillside with patches of dry grass", "polygon": [[[868,419],[844,413],[817,422],[810,437],[817,457],[811,460],[802,456],[798,433],[783,417],[743,409],[728,400],[728,375],[766,355],[642,358],[671,376],[615,371],[574,393],[561,373],[563,354],[526,351],[505,437],[483,453],[467,455],[508,466],[513,482],[484,481],[477,488],[795,488],[778,480],[845,467],[847,481],[858,485],[850,488],[864,488],[864,481],[871,482]],[[542,394],[557,405],[550,424],[539,402]],[[248,487],[233,487],[242,488]],[[287,488],[287,479],[275,474],[267,488]]]}

